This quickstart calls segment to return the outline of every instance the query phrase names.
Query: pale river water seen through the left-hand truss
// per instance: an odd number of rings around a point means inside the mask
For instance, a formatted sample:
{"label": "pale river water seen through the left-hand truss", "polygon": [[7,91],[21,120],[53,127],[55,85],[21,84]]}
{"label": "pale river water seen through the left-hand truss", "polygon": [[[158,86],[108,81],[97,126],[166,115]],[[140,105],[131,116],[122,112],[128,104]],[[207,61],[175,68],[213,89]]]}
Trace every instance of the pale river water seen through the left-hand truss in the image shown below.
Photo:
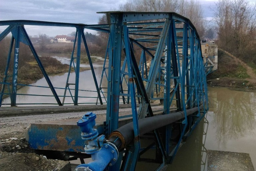
{"label": "pale river water seen through the left-hand truss", "polygon": [[[97,82],[99,84],[100,78],[101,78],[101,72],[102,67],[96,67],[94,69],[95,76],[97,79]],[[64,88],[66,85],[66,79],[67,79],[67,73],[49,76],[52,84],[54,87],[61,87]],[[69,83],[75,83],[75,73],[70,73],[69,76]],[[106,81],[103,82],[104,84],[107,84]],[[32,86],[46,86],[48,87],[48,84],[45,80],[45,78],[42,78],[38,80],[36,83],[31,84]],[[86,85],[86,86],[85,86]],[[105,85],[106,86],[106,85]],[[70,85],[69,88],[74,89],[74,85]],[[96,102],[97,93],[93,92],[95,91],[95,84],[93,81],[93,77],[91,74],[91,70],[82,71],[79,74],[79,89],[86,90],[86,91],[79,91],[78,103],[94,103]],[[59,96],[64,95],[64,89],[56,89],[56,92]],[[16,103],[17,104],[26,104],[25,106],[29,106],[28,104],[31,103],[37,103],[38,105],[32,105],[32,106],[44,106],[40,103],[48,103],[48,104],[56,104],[56,99],[52,96],[52,92],[49,88],[41,88],[41,87],[23,87],[17,91],[17,94],[30,94],[30,95],[49,95],[49,96],[26,96],[26,95],[17,95]],[[74,90],[71,90],[71,94],[74,96]],[[69,92],[66,93],[67,96],[70,96]],[[81,98],[86,97],[86,98]],[[92,97],[92,98],[89,98]],[[62,101],[62,97],[60,97],[60,100]],[[103,99],[103,103],[104,103]],[[10,106],[10,105],[4,105],[4,104],[10,104],[11,100],[10,98],[6,98],[3,100],[3,106]],[[73,101],[71,97],[65,98],[65,104],[72,105]],[[23,106],[23,105],[18,105]]]}

